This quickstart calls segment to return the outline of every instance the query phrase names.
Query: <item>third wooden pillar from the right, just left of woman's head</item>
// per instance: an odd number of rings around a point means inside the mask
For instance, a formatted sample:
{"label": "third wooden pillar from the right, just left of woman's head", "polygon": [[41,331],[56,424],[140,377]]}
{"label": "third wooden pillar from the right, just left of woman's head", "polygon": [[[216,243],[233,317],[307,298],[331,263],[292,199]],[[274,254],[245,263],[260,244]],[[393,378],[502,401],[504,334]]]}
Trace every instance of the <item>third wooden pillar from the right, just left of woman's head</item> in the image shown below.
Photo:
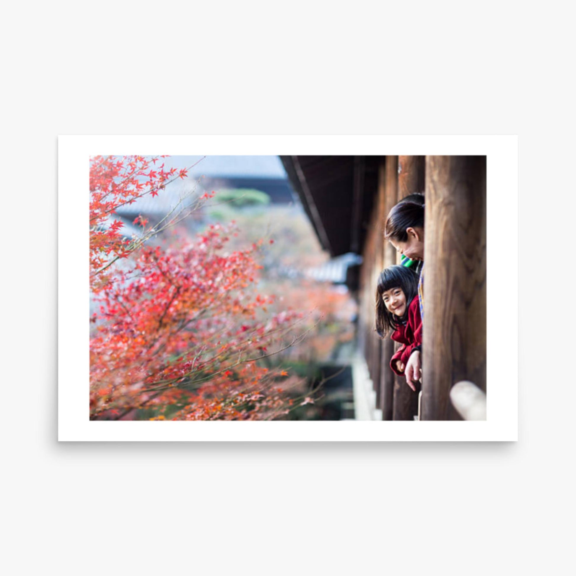
{"label": "third wooden pillar from the right, just left of woman's head", "polygon": [[[382,211],[382,220],[380,222],[380,234],[382,239],[384,234],[384,223],[389,211],[396,204],[398,197],[398,157],[386,156],[384,165],[384,210]],[[396,263],[396,251],[386,241],[382,243],[382,268],[392,266]],[[394,343],[390,335],[382,342],[382,377],[381,377],[381,409],[384,420],[393,418],[393,395],[394,395],[394,373],[390,369],[390,359],[394,353]]]}

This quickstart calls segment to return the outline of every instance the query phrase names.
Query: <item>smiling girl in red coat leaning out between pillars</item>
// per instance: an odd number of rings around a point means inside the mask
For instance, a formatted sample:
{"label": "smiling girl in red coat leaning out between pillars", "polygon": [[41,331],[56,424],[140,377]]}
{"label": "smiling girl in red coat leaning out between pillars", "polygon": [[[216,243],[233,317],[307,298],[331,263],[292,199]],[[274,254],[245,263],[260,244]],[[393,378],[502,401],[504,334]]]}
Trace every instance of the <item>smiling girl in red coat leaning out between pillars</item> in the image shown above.
{"label": "smiling girl in red coat leaning out between pillars", "polygon": [[[389,266],[378,278],[376,331],[384,338],[389,330],[392,340],[402,344],[390,361],[392,371],[401,376],[412,353],[422,346],[418,275],[406,266]],[[416,391],[414,382],[406,381]]]}

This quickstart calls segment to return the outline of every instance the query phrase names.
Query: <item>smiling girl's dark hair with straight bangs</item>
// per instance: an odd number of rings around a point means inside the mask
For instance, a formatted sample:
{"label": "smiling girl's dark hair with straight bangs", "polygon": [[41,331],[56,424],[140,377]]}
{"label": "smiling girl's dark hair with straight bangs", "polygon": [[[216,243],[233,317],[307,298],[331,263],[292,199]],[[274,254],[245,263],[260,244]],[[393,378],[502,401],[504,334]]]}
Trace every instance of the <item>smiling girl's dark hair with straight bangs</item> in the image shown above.
{"label": "smiling girl's dark hair with straight bangs", "polygon": [[[406,296],[406,312],[401,318],[389,312],[382,300],[382,294],[393,288],[400,288]],[[406,321],[408,306],[416,294],[418,294],[418,275],[412,272],[410,268],[395,264],[395,266],[388,266],[380,272],[376,286],[376,332],[381,338],[384,338],[389,330],[395,330]]]}

